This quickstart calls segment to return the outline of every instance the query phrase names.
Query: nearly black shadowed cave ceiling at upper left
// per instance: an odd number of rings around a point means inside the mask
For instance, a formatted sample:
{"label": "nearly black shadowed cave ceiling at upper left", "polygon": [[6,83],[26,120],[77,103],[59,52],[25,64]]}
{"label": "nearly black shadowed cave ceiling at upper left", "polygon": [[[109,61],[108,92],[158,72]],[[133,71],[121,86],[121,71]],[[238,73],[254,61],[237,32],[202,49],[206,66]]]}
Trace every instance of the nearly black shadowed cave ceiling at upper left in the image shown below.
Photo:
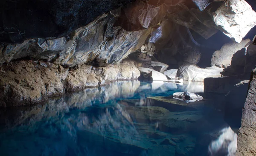
{"label": "nearly black shadowed cave ceiling at upper left", "polygon": [[[97,16],[125,6],[134,0],[5,0],[0,2],[0,42],[22,43],[29,38],[59,38],[70,34]],[[12,12],[12,19],[9,14]],[[70,36],[69,36],[70,37]]]}

